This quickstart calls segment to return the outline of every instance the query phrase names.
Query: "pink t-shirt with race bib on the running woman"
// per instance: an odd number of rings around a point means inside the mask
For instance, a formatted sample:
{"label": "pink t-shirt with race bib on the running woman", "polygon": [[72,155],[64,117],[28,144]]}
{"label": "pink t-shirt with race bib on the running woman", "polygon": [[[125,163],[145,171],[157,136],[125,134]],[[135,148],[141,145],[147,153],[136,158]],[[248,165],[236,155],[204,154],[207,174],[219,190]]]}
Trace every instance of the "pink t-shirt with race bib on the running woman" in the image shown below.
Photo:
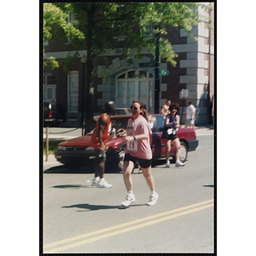
{"label": "pink t-shirt with race bib on the running woman", "polygon": [[137,119],[129,119],[126,127],[127,136],[149,134],[148,139],[131,141],[126,144],[125,154],[131,154],[137,158],[151,160],[152,151],[150,147],[150,137],[152,134],[148,121],[140,115]]}

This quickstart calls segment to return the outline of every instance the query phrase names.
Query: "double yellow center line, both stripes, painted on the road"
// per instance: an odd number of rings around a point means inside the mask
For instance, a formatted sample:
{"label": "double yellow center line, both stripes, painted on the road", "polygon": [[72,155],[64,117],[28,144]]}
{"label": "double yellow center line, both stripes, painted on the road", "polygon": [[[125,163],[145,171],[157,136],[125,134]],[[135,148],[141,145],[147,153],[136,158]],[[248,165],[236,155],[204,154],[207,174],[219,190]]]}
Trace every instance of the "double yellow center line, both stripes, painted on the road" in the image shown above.
{"label": "double yellow center line, both stripes, painted on the road", "polygon": [[[205,206],[200,207],[202,205],[205,205]],[[102,240],[104,238],[108,238],[108,237],[111,237],[111,236],[117,236],[119,234],[131,231],[131,230],[141,229],[141,228],[146,227],[148,225],[157,224],[157,223],[160,223],[162,221],[166,221],[166,220],[171,219],[171,218],[177,218],[177,217],[183,216],[185,214],[201,211],[201,210],[206,209],[208,207],[213,207],[213,200],[202,201],[200,203],[196,203],[196,204],[193,204],[193,205],[190,205],[190,206],[187,206],[187,207],[180,207],[180,208],[168,211],[168,212],[161,212],[161,213],[158,213],[158,214],[155,214],[155,215],[152,215],[152,216],[148,216],[146,218],[139,218],[139,219],[136,219],[134,221],[127,222],[125,224],[119,224],[119,225],[115,225],[113,227],[109,227],[109,228],[106,228],[106,229],[96,230],[96,231],[93,231],[93,232],[90,232],[90,233],[87,233],[87,234],[84,234],[84,235],[81,235],[81,236],[74,236],[74,237],[67,238],[67,239],[64,239],[64,240],[61,240],[61,241],[55,241],[55,242],[52,242],[52,243],[49,243],[49,244],[45,245],[44,249],[48,248],[48,247],[60,246],[64,243],[71,242],[71,241],[77,241],[77,242],[73,242],[71,244],[68,244],[66,246],[56,247],[56,248],[53,248],[53,249],[49,250],[50,252],[64,251],[64,250],[67,250],[69,248],[78,247],[80,245],[90,243],[90,242],[93,242],[93,241],[99,241],[99,240]],[[178,212],[178,213],[173,214],[175,212]],[[166,216],[166,215],[168,215],[168,216]],[[163,216],[166,216],[166,217],[162,218]],[[154,218],[156,218],[156,219],[154,219]],[[150,221],[148,221],[148,220],[150,220]],[[144,221],[148,221],[148,222],[143,223]],[[143,223],[143,224],[139,224],[139,223]],[[134,224],[137,224],[137,225],[134,225]],[[130,227],[127,227],[127,226],[130,226]],[[127,227],[127,228],[125,228],[125,227]],[[125,229],[122,229],[122,228],[125,228]],[[119,230],[117,230],[117,229],[119,229]],[[111,230],[116,230],[116,231],[113,231],[113,232],[109,233],[109,231],[111,231]],[[108,232],[108,233],[103,234],[101,236],[96,236],[96,235],[99,235],[99,234],[102,234],[102,233],[105,233],[105,232]],[[95,237],[90,238],[90,236],[95,236]],[[78,240],[83,239],[85,237],[89,237],[89,238],[85,239],[83,241],[78,241]],[[44,253],[46,253],[46,252],[44,252]]]}

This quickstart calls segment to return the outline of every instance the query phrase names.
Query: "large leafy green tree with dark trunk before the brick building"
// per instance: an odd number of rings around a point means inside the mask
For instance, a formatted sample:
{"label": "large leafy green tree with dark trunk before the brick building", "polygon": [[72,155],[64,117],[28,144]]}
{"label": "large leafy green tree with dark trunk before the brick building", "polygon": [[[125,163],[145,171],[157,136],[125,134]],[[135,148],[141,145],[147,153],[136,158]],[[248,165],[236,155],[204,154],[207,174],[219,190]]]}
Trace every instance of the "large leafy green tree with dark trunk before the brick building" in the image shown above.
{"label": "large leafy green tree with dark trunk before the brick building", "polygon": [[[108,59],[104,57],[108,51],[119,53],[130,64],[130,49],[136,49],[137,58],[143,47],[154,54],[155,37],[148,35],[166,34],[167,25],[182,26],[191,32],[192,26],[201,19],[197,6],[198,3],[44,3],[44,38],[52,39],[52,25],[56,23],[59,29],[55,35],[73,38],[70,44],[78,50],[87,49],[85,132],[90,131],[93,119],[90,88],[96,74],[96,60],[102,58],[106,62],[105,76],[108,77]],[[67,23],[69,12],[78,22]],[[148,29],[148,24],[153,25],[153,31]],[[160,38],[160,60],[166,58],[175,66],[176,57],[171,42]],[[56,67],[55,60],[51,63]]]}

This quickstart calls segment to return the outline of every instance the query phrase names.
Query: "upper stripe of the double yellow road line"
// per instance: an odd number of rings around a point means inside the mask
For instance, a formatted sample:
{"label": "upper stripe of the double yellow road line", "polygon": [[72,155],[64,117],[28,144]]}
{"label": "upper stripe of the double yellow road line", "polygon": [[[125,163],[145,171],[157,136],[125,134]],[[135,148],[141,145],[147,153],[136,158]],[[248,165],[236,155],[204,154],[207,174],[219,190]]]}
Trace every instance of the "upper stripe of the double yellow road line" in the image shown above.
{"label": "upper stripe of the double yellow road line", "polygon": [[141,223],[143,221],[147,221],[147,220],[150,220],[150,219],[153,219],[153,218],[160,218],[162,216],[169,215],[169,214],[172,214],[174,212],[181,212],[181,211],[187,210],[189,208],[199,207],[201,205],[205,205],[205,204],[210,203],[212,201],[213,201],[213,199],[208,200],[208,201],[202,201],[202,202],[199,202],[199,203],[187,206],[187,207],[180,207],[180,208],[168,211],[168,212],[161,212],[161,213],[158,213],[158,214],[155,214],[155,215],[152,215],[152,216],[148,216],[148,217],[145,217],[145,218],[139,218],[139,219],[136,219],[136,220],[124,223],[124,224],[115,225],[115,226],[112,226],[112,227],[109,227],[109,228],[106,228],[106,229],[102,229],[102,230],[96,230],[96,231],[93,231],[93,232],[90,232],[90,233],[87,233],[87,234],[84,234],[84,235],[73,236],[73,237],[70,237],[70,238],[67,238],[67,239],[64,239],[64,240],[61,240],[61,241],[55,241],[55,242],[44,245],[44,249],[48,248],[48,247],[59,246],[63,243],[80,240],[80,239],[83,239],[83,238],[88,237],[88,236],[95,236],[95,235],[99,235],[99,234],[102,234],[102,233],[105,233],[105,232],[109,232],[111,230],[124,228],[126,226],[130,226],[132,224],[138,224],[138,223]]}

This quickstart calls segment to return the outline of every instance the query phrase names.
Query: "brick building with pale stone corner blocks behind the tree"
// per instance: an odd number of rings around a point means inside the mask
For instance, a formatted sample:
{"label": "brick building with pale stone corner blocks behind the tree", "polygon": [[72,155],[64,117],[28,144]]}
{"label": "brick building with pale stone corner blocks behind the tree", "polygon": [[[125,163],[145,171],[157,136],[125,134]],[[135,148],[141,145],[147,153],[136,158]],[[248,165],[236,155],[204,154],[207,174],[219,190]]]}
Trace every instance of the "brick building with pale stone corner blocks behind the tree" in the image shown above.
{"label": "brick building with pale stone corner blocks behind the tree", "polygon": [[[212,3],[213,4],[213,3]],[[214,11],[205,12],[203,15],[212,16],[214,24]],[[172,49],[178,54],[177,66],[161,60],[160,69],[168,70],[169,75],[160,76],[160,107],[167,99],[183,105],[180,91],[189,90],[188,100],[196,108],[195,125],[208,124],[211,116],[212,96],[214,95],[214,30],[209,30],[206,22],[193,26],[192,33],[197,40],[188,37],[180,27],[169,27],[168,37]],[[61,62],[67,55],[75,55],[76,49],[63,41],[44,42],[44,57],[54,56]],[[102,77],[103,63],[97,61],[99,73],[94,77],[94,95],[91,111],[100,113],[105,102],[112,100],[117,108],[129,108],[134,99],[140,99],[146,104],[148,112],[154,113],[154,67],[139,67],[142,62],[154,61],[152,53],[144,49],[143,59],[135,59],[135,50],[131,49],[131,58],[134,63],[130,66],[115,53],[108,54],[110,61],[110,79],[108,82]],[[67,118],[79,119],[82,105],[82,80],[83,64],[81,56],[86,56],[86,49],[79,51],[79,56],[73,67],[64,72],[62,67],[54,71],[44,70],[44,101],[59,102],[67,109]],[[120,64],[123,64],[119,68]],[[135,76],[137,74],[138,76]],[[143,79],[141,78],[143,75]],[[183,123],[185,120],[186,101],[183,109]],[[180,115],[182,113],[180,112]]]}

